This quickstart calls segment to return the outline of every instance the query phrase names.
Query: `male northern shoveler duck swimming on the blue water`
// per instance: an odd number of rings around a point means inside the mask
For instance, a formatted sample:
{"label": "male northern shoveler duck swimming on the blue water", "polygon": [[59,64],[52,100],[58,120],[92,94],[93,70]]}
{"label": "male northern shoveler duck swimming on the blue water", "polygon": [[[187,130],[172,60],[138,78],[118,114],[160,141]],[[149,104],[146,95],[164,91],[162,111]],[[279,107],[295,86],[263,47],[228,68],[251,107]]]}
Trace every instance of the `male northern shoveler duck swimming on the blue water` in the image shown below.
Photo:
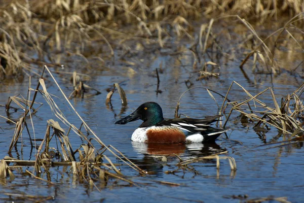
{"label": "male northern shoveler duck swimming on the blue water", "polygon": [[210,127],[211,123],[221,116],[208,116],[203,119],[164,119],[160,105],[150,101],[140,105],[132,114],[115,124],[143,120],[132,134],[131,140],[134,142],[202,143],[214,142],[221,133],[229,130]]}

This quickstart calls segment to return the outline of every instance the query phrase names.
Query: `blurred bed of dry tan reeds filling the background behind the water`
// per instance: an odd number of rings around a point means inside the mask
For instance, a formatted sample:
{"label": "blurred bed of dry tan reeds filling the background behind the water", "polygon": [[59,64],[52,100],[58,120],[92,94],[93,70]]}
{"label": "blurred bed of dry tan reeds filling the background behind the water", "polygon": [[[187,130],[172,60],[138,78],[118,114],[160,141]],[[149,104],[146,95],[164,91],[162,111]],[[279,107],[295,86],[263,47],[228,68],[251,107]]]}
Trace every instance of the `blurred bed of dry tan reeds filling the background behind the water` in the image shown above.
{"label": "blurred bed of dry tan reeds filling the background behind the water", "polygon": [[[88,68],[96,60],[108,63],[115,51],[122,50],[119,60],[136,66],[140,65],[142,52],[147,54],[151,49],[170,47],[170,38],[186,38],[193,46],[172,50],[174,54],[190,52],[193,55],[193,68],[198,73],[196,80],[218,77],[216,70],[220,66],[213,61],[212,53],[229,60],[240,53],[235,48],[225,50],[220,42],[231,37],[228,31],[231,25],[223,26],[217,33],[213,26],[232,21],[233,26],[241,24],[247,29],[238,44],[239,49],[248,52],[240,64],[241,71],[245,73],[244,65],[249,63],[253,73],[280,74],[285,67],[277,63],[282,57],[276,54],[278,47],[288,46],[287,39],[297,46],[296,49],[303,49],[298,26],[303,22],[302,12],[300,0],[7,1],[0,10],[0,76],[38,77],[44,64],[61,67],[59,53],[77,58]],[[259,36],[250,24],[269,18],[279,21],[281,16],[288,16],[289,20],[284,20],[284,26],[265,37]],[[201,24],[198,30],[193,22],[202,17],[205,21],[206,17],[211,20]],[[132,28],[124,29],[126,24]],[[95,46],[96,42],[100,47]],[[130,45],[134,42],[135,47]],[[294,50],[294,47],[287,48]],[[202,57],[205,53],[207,57]],[[134,56],[137,57],[132,60]],[[189,80],[189,84],[192,83]],[[78,87],[81,88],[82,85]]]}

